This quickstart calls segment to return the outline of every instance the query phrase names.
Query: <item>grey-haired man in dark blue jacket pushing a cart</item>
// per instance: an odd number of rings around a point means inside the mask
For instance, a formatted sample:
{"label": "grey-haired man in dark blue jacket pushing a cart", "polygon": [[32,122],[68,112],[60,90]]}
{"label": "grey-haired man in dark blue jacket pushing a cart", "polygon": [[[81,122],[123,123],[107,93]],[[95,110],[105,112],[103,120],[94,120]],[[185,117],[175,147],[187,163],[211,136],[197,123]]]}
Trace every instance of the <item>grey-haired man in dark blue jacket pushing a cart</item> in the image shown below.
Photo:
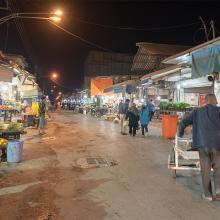
{"label": "grey-haired man in dark blue jacket pushing a cart", "polygon": [[[220,108],[216,105],[215,95],[207,95],[206,106],[195,109],[179,126],[180,137],[187,126],[193,127],[192,147],[199,150],[203,198],[207,200],[220,200]],[[214,169],[215,198],[211,187],[211,168]]]}

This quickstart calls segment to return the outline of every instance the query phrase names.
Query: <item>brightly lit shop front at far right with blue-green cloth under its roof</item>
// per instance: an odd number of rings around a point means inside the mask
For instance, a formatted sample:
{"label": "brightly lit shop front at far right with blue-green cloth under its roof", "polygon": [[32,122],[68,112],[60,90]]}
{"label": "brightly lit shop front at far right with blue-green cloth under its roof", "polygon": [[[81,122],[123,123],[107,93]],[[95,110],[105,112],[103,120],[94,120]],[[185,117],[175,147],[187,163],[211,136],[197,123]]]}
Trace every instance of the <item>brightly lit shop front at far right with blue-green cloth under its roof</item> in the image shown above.
{"label": "brightly lit shop front at far right with blue-green cloth under its roof", "polygon": [[176,82],[176,96],[180,101],[202,106],[209,93],[215,93],[220,101],[220,38],[168,57],[163,63],[189,69],[191,79]]}

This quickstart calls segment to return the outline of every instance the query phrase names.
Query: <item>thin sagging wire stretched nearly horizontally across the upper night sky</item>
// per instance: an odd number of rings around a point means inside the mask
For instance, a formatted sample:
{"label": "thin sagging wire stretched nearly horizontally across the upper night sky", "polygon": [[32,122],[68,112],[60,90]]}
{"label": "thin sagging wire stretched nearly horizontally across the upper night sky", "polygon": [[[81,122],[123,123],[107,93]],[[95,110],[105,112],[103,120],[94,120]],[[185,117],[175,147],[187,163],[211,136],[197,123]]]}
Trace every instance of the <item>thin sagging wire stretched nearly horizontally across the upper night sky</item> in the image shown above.
{"label": "thin sagging wire stretched nearly horizontally across the upper night sky", "polygon": [[113,25],[105,25],[105,24],[81,20],[79,18],[74,18],[74,19],[81,22],[81,23],[85,23],[85,24],[89,24],[89,25],[94,25],[94,26],[98,26],[98,27],[102,27],[102,28],[125,30],[125,31],[157,31],[157,30],[160,31],[160,30],[178,29],[178,28],[189,27],[189,26],[193,26],[195,24],[199,24],[199,22],[194,22],[194,23],[190,23],[190,24],[173,25],[173,26],[165,26],[165,27],[133,28],[133,27],[119,27],[119,26],[113,26]]}

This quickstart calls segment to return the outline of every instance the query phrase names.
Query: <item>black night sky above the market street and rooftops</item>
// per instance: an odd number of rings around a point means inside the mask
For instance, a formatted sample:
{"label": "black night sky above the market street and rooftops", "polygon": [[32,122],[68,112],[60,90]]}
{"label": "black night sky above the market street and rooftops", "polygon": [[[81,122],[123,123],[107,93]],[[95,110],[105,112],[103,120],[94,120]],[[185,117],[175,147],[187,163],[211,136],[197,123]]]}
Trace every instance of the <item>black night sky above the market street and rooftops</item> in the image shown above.
{"label": "black night sky above the market street and rooftops", "polygon": [[[22,12],[48,12],[61,8],[64,19],[60,26],[74,34],[96,43],[106,49],[135,53],[137,42],[158,42],[182,45],[196,45],[205,41],[198,20],[201,15],[209,24],[213,19],[220,31],[220,2],[218,1],[92,1],[92,0],[11,0],[14,10]],[[0,1],[3,6],[4,0]],[[1,11],[1,17],[8,12]],[[137,31],[103,28],[92,23],[133,27],[157,28],[160,30]],[[29,70],[37,65],[39,75],[57,71],[59,83],[65,90],[80,88],[83,82],[83,64],[90,46],[54,27],[47,21],[23,20],[22,37],[14,21],[0,26],[0,47],[7,53],[24,55]],[[166,29],[164,27],[192,24],[188,27]],[[209,27],[209,26],[208,26]],[[219,34],[216,34],[219,36]],[[22,39],[23,38],[23,41]],[[210,34],[211,38],[211,34]],[[42,82],[40,82],[42,83]]]}

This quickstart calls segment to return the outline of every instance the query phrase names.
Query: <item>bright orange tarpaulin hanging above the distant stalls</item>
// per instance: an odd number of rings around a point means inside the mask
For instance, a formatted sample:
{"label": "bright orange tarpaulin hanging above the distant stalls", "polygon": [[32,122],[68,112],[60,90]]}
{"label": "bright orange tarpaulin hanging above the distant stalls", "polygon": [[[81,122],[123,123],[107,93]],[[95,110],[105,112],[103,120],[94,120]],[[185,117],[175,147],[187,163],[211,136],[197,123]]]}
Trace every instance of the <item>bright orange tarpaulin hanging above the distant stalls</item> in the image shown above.
{"label": "bright orange tarpaulin hanging above the distant stalls", "polygon": [[102,95],[104,89],[112,85],[113,85],[113,80],[110,78],[92,79],[91,80],[91,95],[92,96]]}

